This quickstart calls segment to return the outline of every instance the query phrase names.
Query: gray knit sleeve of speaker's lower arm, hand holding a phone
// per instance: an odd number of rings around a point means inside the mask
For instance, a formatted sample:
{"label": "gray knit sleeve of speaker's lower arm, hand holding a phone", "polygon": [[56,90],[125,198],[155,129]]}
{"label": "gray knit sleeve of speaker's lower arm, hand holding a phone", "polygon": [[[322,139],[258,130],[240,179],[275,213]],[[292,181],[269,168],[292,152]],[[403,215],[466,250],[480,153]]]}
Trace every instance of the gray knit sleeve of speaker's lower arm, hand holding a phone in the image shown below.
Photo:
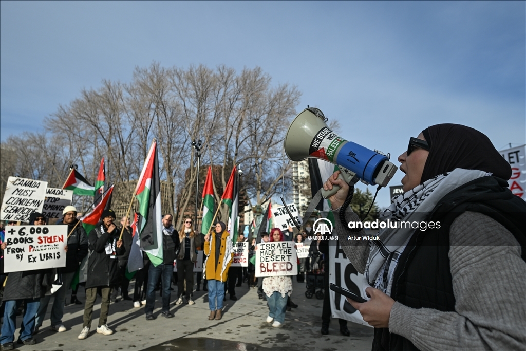
{"label": "gray knit sleeve of speaker's lower arm, hand holding a phone", "polygon": [[526,349],[526,263],[517,240],[472,212],[454,220],[449,239],[455,312],[397,302],[389,331],[421,350]]}

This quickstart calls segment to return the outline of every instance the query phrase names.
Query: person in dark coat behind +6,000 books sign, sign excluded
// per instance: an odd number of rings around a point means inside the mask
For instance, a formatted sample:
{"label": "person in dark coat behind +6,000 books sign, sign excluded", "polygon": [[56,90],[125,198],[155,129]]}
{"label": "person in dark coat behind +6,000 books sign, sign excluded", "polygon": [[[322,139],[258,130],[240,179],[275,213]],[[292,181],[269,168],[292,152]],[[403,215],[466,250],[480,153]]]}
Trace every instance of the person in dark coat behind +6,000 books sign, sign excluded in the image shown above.
{"label": "person in dark coat behind +6,000 books sign, sign excluded", "polygon": [[[46,225],[46,218],[42,213],[34,212],[29,216],[29,225]],[[7,243],[0,244],[2,256]],[[24,303],[25,312],[20,328],[18,343],[24,345],[35,345],[33,337],[35,319],[40,299],[51,285],[50,270],[36,269],[22,272],[11,272],[7,277],[3,300],[5,302],[4,323],[2,324],[0,344],[2,350],[15,348],[16,310]]]}

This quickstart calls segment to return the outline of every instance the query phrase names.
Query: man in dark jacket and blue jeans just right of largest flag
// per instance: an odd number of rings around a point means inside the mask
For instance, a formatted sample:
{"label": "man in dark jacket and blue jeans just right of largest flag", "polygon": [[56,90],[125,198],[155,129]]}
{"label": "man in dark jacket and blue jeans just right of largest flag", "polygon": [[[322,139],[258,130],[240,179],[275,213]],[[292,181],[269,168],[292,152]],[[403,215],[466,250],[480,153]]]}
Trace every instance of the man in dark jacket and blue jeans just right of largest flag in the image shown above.
{"label": "man in dark jacket and blue jeans just right of largest flag", "polygon": [[148,286],[146,290],[146,320],[155,319],[155,286],[159,279],[161,280],[161,288],[163,295],[163,312],[161,314],[165,318],[171,318],[174,315],[170,312],[170,280],[171,274],[174,271],[174,260],[180,249],[179,233],[171,225],[173,216],[166,214],[163,217],[163,263],[157,267],[150,264],[148,270]]}

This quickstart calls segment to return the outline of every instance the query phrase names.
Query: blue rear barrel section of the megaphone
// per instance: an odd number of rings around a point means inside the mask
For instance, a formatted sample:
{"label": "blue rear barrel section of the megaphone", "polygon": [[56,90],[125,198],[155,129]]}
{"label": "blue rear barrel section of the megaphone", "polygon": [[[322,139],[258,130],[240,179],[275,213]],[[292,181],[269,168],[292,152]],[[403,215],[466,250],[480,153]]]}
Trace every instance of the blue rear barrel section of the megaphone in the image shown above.
{"label": "blue rear barrel section of the megaphone", "polygon": [[389,161],[389,158],[353,142],[343,144],[336,158],[338,166],[349,169],[372,185],[376,185],[375,178],[380,171],[379,166],[384,161]]}

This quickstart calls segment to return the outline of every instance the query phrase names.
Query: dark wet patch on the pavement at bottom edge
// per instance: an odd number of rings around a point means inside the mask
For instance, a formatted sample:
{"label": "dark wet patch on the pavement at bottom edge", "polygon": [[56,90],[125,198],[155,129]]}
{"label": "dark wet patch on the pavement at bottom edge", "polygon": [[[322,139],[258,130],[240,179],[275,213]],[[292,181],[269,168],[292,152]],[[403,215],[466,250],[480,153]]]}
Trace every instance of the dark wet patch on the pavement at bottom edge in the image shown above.
{"label": "dark wet patch on the pavement at bottom edge", "polygon": [[[272,347],[272,351],[301,351],[305,348],[294,349],[287,347]],[[231,340],[211,338],[178,338],[162,345],[153,346],[145,351],[265,351],[270,350],[255,344],[240,343]]]}

